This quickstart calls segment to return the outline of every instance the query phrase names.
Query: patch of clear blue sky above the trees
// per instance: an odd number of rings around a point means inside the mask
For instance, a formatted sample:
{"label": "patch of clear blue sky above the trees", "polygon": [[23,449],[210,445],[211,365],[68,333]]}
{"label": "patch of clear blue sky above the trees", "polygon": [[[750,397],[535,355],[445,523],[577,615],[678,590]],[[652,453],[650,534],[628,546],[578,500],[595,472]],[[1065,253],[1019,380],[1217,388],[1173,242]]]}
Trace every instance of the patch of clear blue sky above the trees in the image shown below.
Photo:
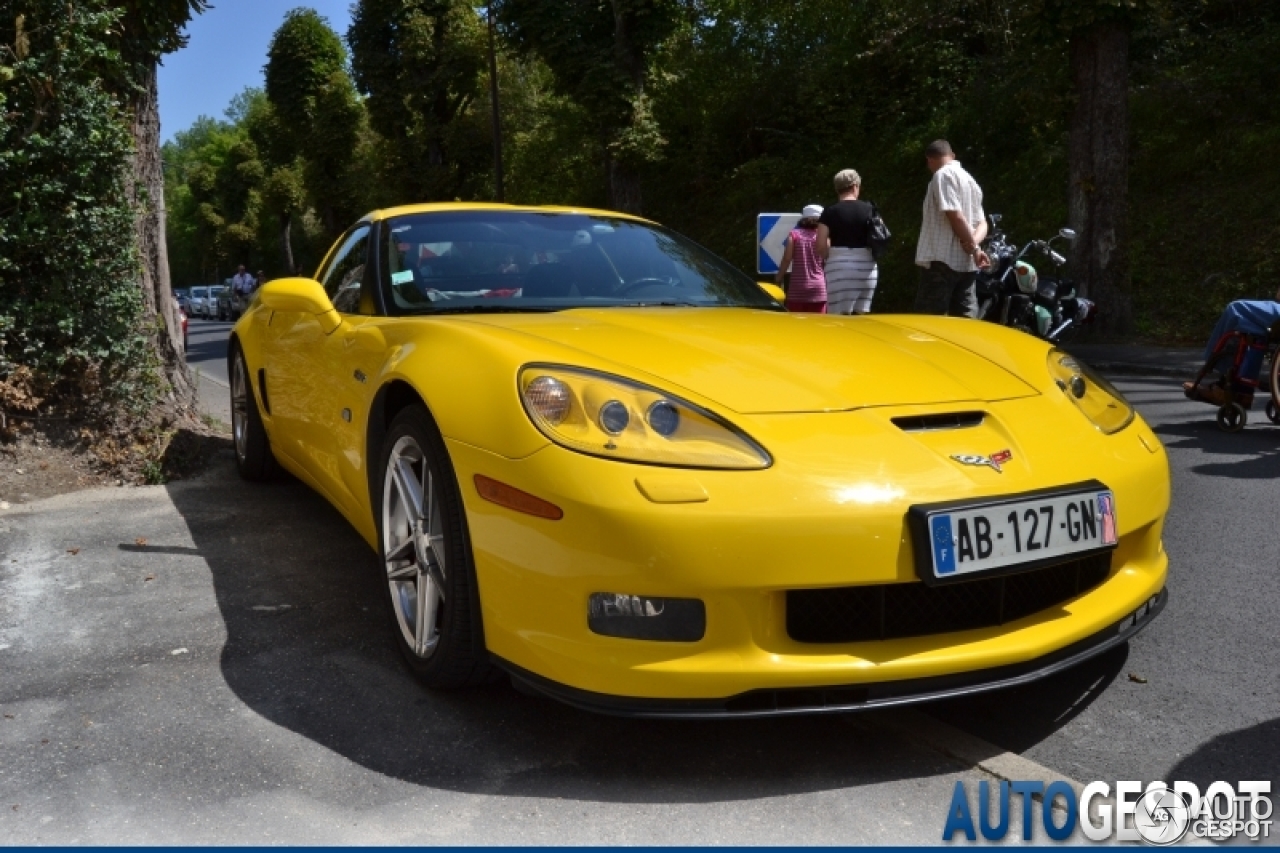
{"label": "patch of clear blue sky above the trees", "polygon": [[188,44],[160,67],[160,134],[173,138],[201,115],[223,118],[232,96],[262,85],[271,35],[284,13],[310,6],[346,37],[352,0],[212,0],[187,26]]}

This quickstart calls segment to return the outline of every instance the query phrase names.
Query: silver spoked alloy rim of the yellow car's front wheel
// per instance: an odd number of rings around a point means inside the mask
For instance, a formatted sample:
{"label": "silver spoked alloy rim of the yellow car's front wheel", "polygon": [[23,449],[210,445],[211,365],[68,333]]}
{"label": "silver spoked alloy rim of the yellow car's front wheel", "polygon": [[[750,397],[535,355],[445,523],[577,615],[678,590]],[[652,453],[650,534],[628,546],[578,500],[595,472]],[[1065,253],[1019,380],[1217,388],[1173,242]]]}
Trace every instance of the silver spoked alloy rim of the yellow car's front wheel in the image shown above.
{"label": "silver spoked alloy rim of the yellow car's front wheel", "polygon": [[445,540],[436,478],[412,435],[392,447],[383,479],[383,561],[396,621],[419,658],[435,652],[445,594]]}

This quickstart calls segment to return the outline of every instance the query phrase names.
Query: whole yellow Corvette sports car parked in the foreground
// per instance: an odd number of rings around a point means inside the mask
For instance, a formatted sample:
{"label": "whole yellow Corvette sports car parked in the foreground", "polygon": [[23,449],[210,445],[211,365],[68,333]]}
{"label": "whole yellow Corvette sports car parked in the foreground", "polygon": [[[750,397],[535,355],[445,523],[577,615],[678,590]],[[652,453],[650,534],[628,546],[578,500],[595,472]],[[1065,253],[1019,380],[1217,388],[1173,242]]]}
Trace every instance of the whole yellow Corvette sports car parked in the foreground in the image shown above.
{"label": "whole yellow Corvette sports car parked in the foreground", "polygon": [[241,474],[378,552],[431,686],[504,670],[641,716],[1018,684],[1166,601],[1164,448],[988,323],[788,314],[632,216],[420,205],[265,284],[229,351]]}

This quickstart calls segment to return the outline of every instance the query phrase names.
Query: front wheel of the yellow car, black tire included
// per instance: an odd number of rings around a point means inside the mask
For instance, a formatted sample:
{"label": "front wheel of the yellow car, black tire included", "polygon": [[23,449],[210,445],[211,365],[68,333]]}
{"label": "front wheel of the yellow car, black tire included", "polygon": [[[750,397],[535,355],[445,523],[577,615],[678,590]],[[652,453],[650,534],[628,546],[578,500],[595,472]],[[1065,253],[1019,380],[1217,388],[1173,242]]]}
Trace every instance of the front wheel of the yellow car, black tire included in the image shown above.
{"label": "front wheel of the yellow car, black tire included", "polygon": [[[421,519],[419,528],[413,528],[410,520],[413,515],[411,501],[402,496],[404,480],[388,470],[393,459],[410,465],[417,478],[407,488],[415,484],[422,487],[416,503],[424,508],[417,516]],[[401,656],[430,688],[460,688],[490,680],[494,670],[484,642],[480,594],[462,494],[444,439],[425,407],[408,406],[396,415],[374,470],[376,479],[371,488],[374,523],[378,526],[378,567],[392,635]],[[428,492],[431,493],[430,500]],[[443,561],[439,562],[433,556],[435,546],[430,544],[433,530],[443,534],[439,546]],[[411,546],[410,540],[415,537],[420,547]],[[408,548],[412,549],[406,551]],[[404,556],[389,560],[393,549]],[[433,574],[433,566],[438,566],[438,573]],[[443,599],[435,594],[442,575]],[[434,601],[433,607],[422,608],[434,613],[434,628],[426,628],[420,642],[417,631],[424,630],[424,620],[419,619],[419,610],[425,598]],[[410,625],[411,621],[415,624]]]}

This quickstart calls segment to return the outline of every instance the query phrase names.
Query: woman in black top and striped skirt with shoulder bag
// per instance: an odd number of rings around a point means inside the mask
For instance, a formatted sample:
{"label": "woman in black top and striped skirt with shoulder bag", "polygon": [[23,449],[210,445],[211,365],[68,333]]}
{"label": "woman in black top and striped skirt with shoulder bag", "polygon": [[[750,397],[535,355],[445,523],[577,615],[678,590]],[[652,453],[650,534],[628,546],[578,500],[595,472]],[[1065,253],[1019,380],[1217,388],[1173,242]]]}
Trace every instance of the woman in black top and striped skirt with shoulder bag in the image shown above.
{"label": "woman in black top and striped skirt with shoulder bag", "polygon": [[872,207],[858,200],[861,177],[852,169],[836,173],[840,201],[818,219],[818,251],[827,261],[827,314],[867,314],[879,280],[879,268],[867,247]]}

